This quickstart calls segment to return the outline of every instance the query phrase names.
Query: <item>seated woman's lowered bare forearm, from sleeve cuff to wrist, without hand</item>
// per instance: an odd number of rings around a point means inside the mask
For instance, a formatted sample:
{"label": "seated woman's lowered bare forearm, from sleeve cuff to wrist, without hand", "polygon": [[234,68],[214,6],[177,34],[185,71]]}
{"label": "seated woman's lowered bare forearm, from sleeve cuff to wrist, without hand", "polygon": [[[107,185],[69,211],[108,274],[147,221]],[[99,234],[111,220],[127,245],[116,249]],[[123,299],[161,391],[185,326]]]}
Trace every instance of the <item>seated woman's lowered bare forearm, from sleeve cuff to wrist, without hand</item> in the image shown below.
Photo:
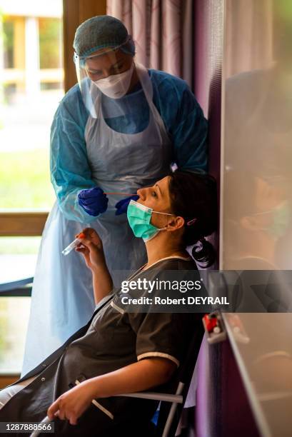
{"label": "seated woman's lowered bare forearm, from sleeve cuff to wrist, without hand", "polygon": [[176,365],[164,358],[150,358],[119,368],[105,375],[91,378],[90,384],[93,398],[106,398],[121,393],[134,393],[148,390],[166,383]]}

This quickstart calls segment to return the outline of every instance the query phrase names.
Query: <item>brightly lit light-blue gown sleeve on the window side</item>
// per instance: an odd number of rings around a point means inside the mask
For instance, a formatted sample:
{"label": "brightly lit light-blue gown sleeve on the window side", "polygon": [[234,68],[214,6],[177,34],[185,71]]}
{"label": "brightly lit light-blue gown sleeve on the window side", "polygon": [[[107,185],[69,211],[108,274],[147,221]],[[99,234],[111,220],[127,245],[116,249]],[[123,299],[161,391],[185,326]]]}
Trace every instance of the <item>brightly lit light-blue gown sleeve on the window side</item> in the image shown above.
{"label": "brightly lit light-blue gown sleeve on the window side", "polygon": [[78,204],[77,194],[96,184],[84,138],[88,112],[81,101],[78,85],[61,101],[51,126],[51,183],[54,186],[59,208],[69,220],[89,223],[96,217],[87,214]]}

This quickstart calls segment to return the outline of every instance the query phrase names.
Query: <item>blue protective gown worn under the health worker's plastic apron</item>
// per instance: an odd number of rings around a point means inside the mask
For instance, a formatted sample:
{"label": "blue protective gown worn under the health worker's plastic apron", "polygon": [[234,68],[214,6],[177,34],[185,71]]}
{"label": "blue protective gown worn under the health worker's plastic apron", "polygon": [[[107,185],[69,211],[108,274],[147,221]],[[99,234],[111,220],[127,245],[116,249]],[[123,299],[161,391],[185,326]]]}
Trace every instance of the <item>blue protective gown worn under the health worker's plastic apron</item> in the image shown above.
{"label": "blue protective gown worn under the health worker's plastic apron", "polygon": [[[153,85],[153,104],[173,144],[172,161],[181,170],[206,171],[207,121],[201,106],[182,79],[152,69],[149,74]],[[104,99],[108,101],[110,112],[112,100]],[[148,123],[148,104],[143,93],[137,99],[140,113],[129,114],[129,117],[111,115],[109,119],[105,114],[107,124],[125,134],[144,130]],[[69,220],[90,223],[96,218],[86,214],[76,199],[81,188],[96,186],[91,179],[84,139],[88,117],[89,112],[86,111],[79,85],[76,84],[61,101],[51,128],[51,182],[64,216]]]}

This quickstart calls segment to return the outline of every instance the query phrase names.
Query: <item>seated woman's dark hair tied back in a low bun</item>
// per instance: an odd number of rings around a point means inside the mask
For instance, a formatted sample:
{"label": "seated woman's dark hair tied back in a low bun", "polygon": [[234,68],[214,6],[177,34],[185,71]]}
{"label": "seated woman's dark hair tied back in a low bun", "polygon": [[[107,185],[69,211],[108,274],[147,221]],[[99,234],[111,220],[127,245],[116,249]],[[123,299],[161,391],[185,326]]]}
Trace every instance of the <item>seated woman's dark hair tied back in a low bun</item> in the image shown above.
{"label": "seated woman's dark hair tied back in a low bun", "polygon": [[173,214],[185,220],[183,244],[195,245],[193,258],[211,266],[216,253],[211,243],[204,237],[217,228],[217,189],[216,181],[208,174],[174,171],[169,179],[169,194]]}

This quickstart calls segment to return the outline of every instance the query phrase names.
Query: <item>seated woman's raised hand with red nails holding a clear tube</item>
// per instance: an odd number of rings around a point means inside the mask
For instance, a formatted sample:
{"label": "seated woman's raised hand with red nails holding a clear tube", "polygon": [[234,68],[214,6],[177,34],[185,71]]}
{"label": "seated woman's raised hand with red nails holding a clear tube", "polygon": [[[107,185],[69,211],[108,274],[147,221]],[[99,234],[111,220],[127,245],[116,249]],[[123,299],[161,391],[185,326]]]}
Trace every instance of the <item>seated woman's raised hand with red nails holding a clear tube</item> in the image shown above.
{"label": "seated woman's raised hand with red nails holding a clear tube", "polygon": [[[82,233],[85,238],[82,238]],[[92,271],[105,266],[104,248],[99,234],[93,228],[85,228],[81,234],[76,235],[81,239],[81,243],[76,247],[76,251],[84,256],[86,266]]]}

